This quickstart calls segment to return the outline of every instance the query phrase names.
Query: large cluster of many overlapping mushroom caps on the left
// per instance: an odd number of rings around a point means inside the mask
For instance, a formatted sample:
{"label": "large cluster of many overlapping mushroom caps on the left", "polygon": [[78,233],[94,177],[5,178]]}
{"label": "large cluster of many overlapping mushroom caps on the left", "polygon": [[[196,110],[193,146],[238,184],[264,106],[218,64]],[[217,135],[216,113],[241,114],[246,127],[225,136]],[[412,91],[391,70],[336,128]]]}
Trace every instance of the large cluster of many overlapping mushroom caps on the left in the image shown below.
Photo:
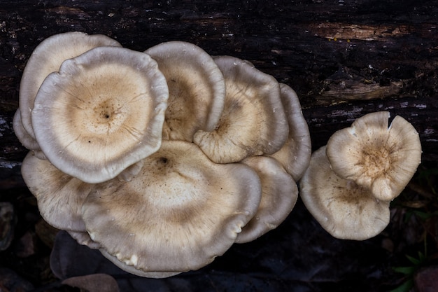
{"label": "large cluster of many overlapping mushroom caps on the left", "polygon": [[276,228],[311,158],[292,88],[182,41],[137,52],[51,36],[13,126],[45,221],[141,277],[197,270]]}

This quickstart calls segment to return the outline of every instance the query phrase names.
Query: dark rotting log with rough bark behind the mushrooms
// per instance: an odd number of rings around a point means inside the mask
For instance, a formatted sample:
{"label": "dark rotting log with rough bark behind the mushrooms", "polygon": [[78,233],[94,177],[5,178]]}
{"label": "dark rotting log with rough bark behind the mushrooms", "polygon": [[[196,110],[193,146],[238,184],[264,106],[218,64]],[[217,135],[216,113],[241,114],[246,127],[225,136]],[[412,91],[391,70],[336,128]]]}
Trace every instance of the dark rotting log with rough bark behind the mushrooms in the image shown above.
{"label": "dark rotting log with rough bark behind the mushrooms", "polygon": [[12,130],[22,70],[52,34],[106,34],[133,50],[171,40],[234,55],[294,88],[313,149],[372,111],[418,130],[438,153],[438,1],[0,0],[0,168],[26,149]]}

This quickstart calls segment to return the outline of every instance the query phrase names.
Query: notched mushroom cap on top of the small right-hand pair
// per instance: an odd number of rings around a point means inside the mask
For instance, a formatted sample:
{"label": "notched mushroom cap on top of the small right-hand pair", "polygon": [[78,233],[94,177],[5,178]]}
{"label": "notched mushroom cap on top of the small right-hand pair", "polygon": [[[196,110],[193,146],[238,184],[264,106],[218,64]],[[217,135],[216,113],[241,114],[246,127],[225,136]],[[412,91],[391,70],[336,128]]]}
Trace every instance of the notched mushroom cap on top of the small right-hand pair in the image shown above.
{"label": "notched mushroom cap on top of the small right-hand pair", "polygon": [[421,162],[418,132],[396,116],[388,127],[388,111],[368,113],[327,141],[334,172],[368,188],[379,200],[400,195]]}

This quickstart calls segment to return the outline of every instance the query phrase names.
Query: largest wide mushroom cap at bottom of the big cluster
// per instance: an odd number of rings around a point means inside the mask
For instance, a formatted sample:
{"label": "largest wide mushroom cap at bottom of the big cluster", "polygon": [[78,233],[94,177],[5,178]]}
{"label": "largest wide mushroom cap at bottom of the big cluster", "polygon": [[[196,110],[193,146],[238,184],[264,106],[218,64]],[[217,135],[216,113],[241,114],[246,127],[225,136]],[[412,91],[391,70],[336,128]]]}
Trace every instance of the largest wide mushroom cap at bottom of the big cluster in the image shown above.
{"label": "largest wide mushroom cap at bottom of the big cluster", "polygon": [[99,184],[83,204],[94,242],[141,272],[185,272],[211,263],[257,211],[260,179],[217,165],[195,144],[164,140],[129,183]]}

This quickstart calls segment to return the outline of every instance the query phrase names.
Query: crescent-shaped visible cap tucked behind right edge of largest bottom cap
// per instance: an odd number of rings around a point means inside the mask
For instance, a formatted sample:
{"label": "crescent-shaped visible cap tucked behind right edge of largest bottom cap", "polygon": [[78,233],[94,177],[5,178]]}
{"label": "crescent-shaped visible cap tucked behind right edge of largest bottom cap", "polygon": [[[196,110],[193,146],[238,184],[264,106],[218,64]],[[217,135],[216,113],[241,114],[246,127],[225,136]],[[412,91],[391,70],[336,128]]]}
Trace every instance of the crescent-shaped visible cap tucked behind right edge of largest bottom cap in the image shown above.
{"label": "crescent-shaped visible cap tucked behind right edge of largest bottom cap", "polygon": [[297,183],[274,158],[251,156],[242,160],[262,182],[262,200],[255,216],[242,228],[236,242],[250,242],[277,228],[290,214],[298,198]]}

